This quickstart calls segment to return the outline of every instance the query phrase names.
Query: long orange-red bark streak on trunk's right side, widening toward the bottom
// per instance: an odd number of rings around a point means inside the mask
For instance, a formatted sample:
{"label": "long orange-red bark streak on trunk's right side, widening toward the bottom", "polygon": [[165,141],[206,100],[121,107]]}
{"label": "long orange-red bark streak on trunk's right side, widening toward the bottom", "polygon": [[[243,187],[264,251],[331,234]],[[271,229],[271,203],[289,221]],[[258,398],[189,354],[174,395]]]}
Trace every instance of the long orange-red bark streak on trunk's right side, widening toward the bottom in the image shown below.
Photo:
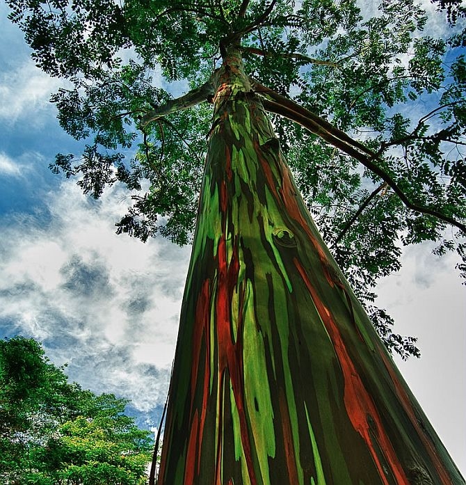
{"label": "long orange-red bark streak on trunk's right side, widening toward the bottom", "polygon": [[387,459],[387,462],[392,468],[396,483],[399,485],[409,485],[408,478],[406,477],[405,472],[396,457],[392,443],[390,443],[390,440],[385,433],[385,429],[383,428],[383,424],[380,420],[380,415],[378,414],[376,406],[373,404],[369,392],[367,392],[367,390],[364,388],[364,384],[362,383],[360,376],[357,374],[355,365],[353,364],[351,357],[346,350],[345,344],[342,340],[342,335],[339,333],[335,321],[333,321],[328,308],[326,308],[326,306],[319,299],[316,290],[307,277],[305,269],[301,266],[300,262],[296,258],[294,258],[294,264],[311,294],[312,300],[314,301],[314,305],[316,305],[316,309],[321,316],[323,324],[326,326],[335,352],[337,353],[337,358],[342,367],[344,376],[344,403],[346,411],[348,412],[348,417],[351,420],[351,424],[353,424],[354,429],[362,436],[367,444],[367,447],[369,447],[373,461],[376,463],[378,468],[380,478],[383,479],[383,482],[388,485],[387,479],[385,478],[385,472],[383,471],[383,466],[380,463],[376,450],[374,450],[371,442],[370,427],[369,423],[367,422],[367,416],[371,416],[376,428],[373,436],[378,441],[378,445],[383,451],[385,459]]}

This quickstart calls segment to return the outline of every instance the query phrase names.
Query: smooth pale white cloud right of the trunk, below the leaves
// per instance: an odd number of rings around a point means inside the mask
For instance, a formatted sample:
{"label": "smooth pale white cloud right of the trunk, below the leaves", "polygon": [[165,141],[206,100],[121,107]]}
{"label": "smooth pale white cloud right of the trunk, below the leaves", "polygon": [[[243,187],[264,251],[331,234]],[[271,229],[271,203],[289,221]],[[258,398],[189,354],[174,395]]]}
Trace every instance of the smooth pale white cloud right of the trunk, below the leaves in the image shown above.
{"label": "smooth pale white cloud right of the trunk, below the leaves", "polygon": [[419,337],[421,358],[395,358],[410,389],[449,450],[466,470],[466,298],[453,253],[437,258],[433,244],[405,248],[399,273],[378,287],[378,304],[395,331]]}

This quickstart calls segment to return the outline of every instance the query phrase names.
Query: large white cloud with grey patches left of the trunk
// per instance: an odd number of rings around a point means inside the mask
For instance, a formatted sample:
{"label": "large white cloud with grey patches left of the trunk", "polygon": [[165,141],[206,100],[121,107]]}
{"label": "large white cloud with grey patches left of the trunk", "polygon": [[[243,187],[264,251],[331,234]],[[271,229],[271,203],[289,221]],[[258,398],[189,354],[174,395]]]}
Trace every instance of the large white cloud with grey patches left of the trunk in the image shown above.
{"label": "large white cloud with grey patches left of the trunk", "polygon": [[189,248],[117,236],[126,209],[118,188],[96,202],[66,181],[47,204],[46,226],[3,228],[0,319],[43,340],[85,387],[139,408],[163,403]]}

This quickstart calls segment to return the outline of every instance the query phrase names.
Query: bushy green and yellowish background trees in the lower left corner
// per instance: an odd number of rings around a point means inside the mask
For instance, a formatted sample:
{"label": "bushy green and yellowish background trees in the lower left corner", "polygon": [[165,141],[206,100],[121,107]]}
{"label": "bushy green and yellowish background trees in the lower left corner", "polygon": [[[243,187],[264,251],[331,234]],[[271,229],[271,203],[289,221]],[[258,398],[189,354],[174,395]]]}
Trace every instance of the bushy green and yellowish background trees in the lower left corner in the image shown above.
{"label": "bushy green and yellowish background trees in the lower left corner", "polygon": [[127,402],[68,383],[33,339],[0,340],[1,482],[144,484],[153,441]]}

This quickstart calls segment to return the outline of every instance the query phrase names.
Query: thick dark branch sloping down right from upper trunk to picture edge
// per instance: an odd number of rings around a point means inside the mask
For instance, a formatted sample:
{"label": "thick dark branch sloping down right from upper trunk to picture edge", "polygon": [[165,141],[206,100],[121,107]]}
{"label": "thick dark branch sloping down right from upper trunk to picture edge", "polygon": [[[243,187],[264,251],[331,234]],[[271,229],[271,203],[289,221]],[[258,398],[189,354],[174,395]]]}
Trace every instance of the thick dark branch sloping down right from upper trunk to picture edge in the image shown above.
{"label": "thick dark branch sloping down right from upper trunk to picture edge", "polygon": [[425,207],[423,205],[418,205],[408,199],[405,193],[399,188],[396,182],[385,172],[382,168],[373,163],[373,160],[380,160],[378,155],[374,153],[369,148],[362,145],[362,143],[353,140],[350,136],[342,132],[341,130],[330,125],[329,122],[323,120],[311,111],[299,106],[294,101],[275,93],[273,90],[264,88],[264,86],[259,83],[255,83],[255,90],[258,94],[264,96],[263,105],[264,109],[276,113],[281,116],[285,116],[294,122],[302,125],[310,132],[319,135],[323,140],[327,141],[331,145],[335,146],[339,150],[351,155],[366,168],[369,168],[371,172],[375,173],[384,182],[389,185],[394,193],[401,199],[406,207],[412,209],[415,212],[420,212],[421,214],[429,214],[434,216],[440,221],[444,221],[456,228],[463,231],[466,234],[466,225],[456,221],[455,219],[445,216],[444,214],[437,212],[435,209],[430,207]]}

